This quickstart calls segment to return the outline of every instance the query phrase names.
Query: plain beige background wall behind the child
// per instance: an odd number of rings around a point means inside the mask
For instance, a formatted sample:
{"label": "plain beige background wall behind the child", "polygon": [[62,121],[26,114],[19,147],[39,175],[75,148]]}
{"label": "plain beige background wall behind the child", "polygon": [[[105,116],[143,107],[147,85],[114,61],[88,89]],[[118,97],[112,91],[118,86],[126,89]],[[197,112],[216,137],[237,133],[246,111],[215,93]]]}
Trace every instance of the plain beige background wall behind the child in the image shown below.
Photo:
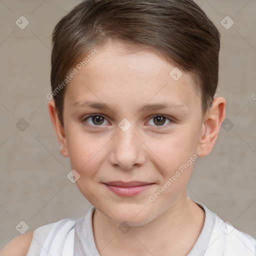
{"label": "plain beige background wall behind the child", "polygon": [[[0,248],[19,234],[21,220],[33,230],[90,207],[66,177],[69,159],[59,153],[46,98],[51,32],[78,2],[0,0]],[[256,237],[256,2],[196,2],[222,36],[217,94],[227,99],[234,126],[221,128],[212,153],[197,161],[188,193]],[[24,29],[15,24],[21,15],[29,21]],[[220,24],[226,15],[234,21],[229,29]],[[28,123],[23,131],[16,126],[21,118]]]}

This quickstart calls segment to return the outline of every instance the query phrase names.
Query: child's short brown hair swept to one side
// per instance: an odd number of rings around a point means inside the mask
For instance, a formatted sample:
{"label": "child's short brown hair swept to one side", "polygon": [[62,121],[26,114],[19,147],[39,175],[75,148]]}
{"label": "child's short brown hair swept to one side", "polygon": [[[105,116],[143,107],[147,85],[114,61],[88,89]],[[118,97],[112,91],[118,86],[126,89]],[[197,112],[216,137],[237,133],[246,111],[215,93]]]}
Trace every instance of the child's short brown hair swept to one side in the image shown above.
{"label": "child's short brown hair swept to one side", "polygon": [[[86,53],[109,39],[134,49],[148,46],[189,71],[200,89],[202,112],[211,106],[218,83],[220,34],[192,0],[83,0],[53,30],[52,92]],[[61,86],[53,94],[62,125],[64,91]]]}

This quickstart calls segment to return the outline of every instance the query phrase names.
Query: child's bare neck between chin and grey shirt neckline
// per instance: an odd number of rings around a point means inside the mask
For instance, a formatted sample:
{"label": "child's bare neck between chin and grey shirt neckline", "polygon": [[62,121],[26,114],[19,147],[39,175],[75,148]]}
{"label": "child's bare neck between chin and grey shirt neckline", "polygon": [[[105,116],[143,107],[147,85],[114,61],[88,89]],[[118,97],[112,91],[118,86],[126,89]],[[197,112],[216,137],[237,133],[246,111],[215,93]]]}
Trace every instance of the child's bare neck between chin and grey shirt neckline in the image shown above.
{"label": "child's bare neck between chin and grey shirt neckline", "polygon": [[203,223],[203,209],[187,198],[186,191],[159,217],[145,225],[132,226],[125,234],[97,209],[92,219],[95,244],[103,256],[113,255],[113,251],[122,256],[125,251],[127,255],[145,255],[146,250],[153,255],[163,255],[166,251],[168,255],[170,251],[173,255],[186,255],[197,240]]}

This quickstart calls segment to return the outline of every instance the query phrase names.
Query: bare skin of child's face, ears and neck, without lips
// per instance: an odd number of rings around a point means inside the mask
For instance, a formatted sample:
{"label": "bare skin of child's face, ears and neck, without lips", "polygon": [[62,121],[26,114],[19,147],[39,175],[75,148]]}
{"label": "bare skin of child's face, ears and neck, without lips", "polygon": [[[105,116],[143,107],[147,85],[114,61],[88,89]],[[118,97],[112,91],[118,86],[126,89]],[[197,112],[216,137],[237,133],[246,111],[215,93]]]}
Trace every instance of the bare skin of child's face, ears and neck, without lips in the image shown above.
{"label": "bare skin of child's face, ears and neck, without lips", "polygon": [[[186,192],[194,162],[154,202],[148,198],[197,151],[200,157],[211,151],[224,119],[225,99],[215,97],[203,115],[200,92],[189,73],[175,81],[169,75],[174,65],[149,49],[129,52],[108,42],[98,50],[66,87],[64,127],[54,101],[48,103],[60,152],[70,157],[80,175],[77,187],[96,208],[93,235],[98,251],[103,256],[186,255],[204,223],[203,209]],[[85,100],[108,108],[88,108],[81,105]],[[163,102],[182,107],[138,112],[143,104]],[[91,114],[104,117],[102,124],[93,122]],[[154,114],[166,117],[161,126]],[[123,118],[131,124],[126,131],[118,127]],[[114,180],[153,185],[123,197],[102,183]],[[131,227],[127,233],[118,228],[123,221]]]}

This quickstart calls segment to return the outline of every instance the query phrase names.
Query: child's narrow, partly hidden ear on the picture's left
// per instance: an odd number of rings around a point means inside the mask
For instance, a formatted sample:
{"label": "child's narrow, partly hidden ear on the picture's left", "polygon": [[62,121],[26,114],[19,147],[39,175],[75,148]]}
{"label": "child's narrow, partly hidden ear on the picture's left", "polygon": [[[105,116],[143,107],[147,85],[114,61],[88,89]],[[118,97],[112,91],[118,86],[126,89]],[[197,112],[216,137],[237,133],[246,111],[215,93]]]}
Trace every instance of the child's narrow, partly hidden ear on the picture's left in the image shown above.
{"label": "child's narrow, partly hidden ear on the picture's left", "polygon": [[68,150],[67,150],[67,145],[66,145],[65,129],[58,118],[54,99],[49,100],[48,111],[50,114],[51,122],[52,122],[54,129],[56,131],[56,134],[57,134],[58,142],[60,144],[60,153],[64,157],[68,157],[69,155],[68,155]]}

